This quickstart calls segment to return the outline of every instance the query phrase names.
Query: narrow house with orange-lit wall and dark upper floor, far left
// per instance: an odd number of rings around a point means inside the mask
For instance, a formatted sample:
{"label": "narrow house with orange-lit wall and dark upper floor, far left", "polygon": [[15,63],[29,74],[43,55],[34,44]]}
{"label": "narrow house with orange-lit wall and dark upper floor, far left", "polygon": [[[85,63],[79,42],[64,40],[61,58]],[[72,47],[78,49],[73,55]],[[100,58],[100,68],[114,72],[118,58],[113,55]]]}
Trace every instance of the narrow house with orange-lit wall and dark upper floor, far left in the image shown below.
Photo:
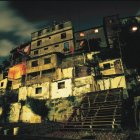
{"label": "narrow house with orange-lit wall and dark upper floor, far left", "polygon": [[21,44],[11,50],[11,66],[8,71],[8,80],[12,81],[12,89],[18,89],[25,84],[26,61],[30,54],[30,42]]}

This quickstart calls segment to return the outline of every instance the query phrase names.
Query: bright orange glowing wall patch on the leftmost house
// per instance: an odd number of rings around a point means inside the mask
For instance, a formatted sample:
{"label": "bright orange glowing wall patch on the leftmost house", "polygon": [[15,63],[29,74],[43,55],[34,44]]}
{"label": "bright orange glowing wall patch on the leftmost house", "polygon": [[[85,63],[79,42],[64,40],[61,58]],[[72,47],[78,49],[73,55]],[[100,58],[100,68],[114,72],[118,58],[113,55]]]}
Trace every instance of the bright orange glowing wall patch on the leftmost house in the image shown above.
{"label": "bright orange glowing wall patch on the leftmost house", "polygon": [[21,78],[22,75],[26,74],[26,63],[23,62],[21,64],[15,65],[9,69],[8,78],[9,79],[18,79]]}

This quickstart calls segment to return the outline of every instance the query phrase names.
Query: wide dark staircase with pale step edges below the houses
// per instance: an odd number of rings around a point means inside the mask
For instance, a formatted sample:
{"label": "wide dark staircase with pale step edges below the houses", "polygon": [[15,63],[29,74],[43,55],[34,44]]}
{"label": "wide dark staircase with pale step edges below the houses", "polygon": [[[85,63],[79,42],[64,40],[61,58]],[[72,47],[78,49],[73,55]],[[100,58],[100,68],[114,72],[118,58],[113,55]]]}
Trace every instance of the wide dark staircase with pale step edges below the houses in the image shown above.
{"label": "wide dark staircase with pale step edges below the houses", "polygon": [[121,129],[123,90],[121,88],[87,93],[74,108],[62,130],[100,131]]}

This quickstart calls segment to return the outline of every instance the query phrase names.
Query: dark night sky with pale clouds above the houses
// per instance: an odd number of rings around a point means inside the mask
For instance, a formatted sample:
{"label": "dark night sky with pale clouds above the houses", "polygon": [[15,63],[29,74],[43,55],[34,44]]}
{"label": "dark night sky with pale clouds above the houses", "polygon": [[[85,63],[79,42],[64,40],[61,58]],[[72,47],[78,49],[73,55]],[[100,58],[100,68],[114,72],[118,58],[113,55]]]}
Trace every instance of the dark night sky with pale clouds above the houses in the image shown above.
{"label": "dark night sky with pale clouds above the houses", "polygon": [[53,21],[71,20],[75,30],[102,25],[104,16],[120,17],[140,14],[136,1],[1,1],[0,60],[12,48],[29,41],[33,31],[51,25]]}

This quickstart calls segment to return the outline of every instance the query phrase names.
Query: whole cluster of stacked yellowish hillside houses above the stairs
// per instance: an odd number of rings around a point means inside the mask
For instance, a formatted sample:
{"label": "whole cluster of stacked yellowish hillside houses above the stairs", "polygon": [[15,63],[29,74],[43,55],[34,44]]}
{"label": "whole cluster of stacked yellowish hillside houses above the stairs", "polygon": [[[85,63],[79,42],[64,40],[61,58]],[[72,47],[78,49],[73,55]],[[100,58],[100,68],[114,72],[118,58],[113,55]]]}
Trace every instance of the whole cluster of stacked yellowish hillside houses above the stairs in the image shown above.
{"label": "whole cluster of stacked yellowish hillside houses above the stairs", "polygon": [[1,76],[0,90],[9,87],[18,93],[18,100],[126,90],[121,56],[104,57],[105,49],[115,50],[107,47],[103,26],[74,32],[68,21],[33,32],[31,42],[11,51],[11,66],[8,76]]}

